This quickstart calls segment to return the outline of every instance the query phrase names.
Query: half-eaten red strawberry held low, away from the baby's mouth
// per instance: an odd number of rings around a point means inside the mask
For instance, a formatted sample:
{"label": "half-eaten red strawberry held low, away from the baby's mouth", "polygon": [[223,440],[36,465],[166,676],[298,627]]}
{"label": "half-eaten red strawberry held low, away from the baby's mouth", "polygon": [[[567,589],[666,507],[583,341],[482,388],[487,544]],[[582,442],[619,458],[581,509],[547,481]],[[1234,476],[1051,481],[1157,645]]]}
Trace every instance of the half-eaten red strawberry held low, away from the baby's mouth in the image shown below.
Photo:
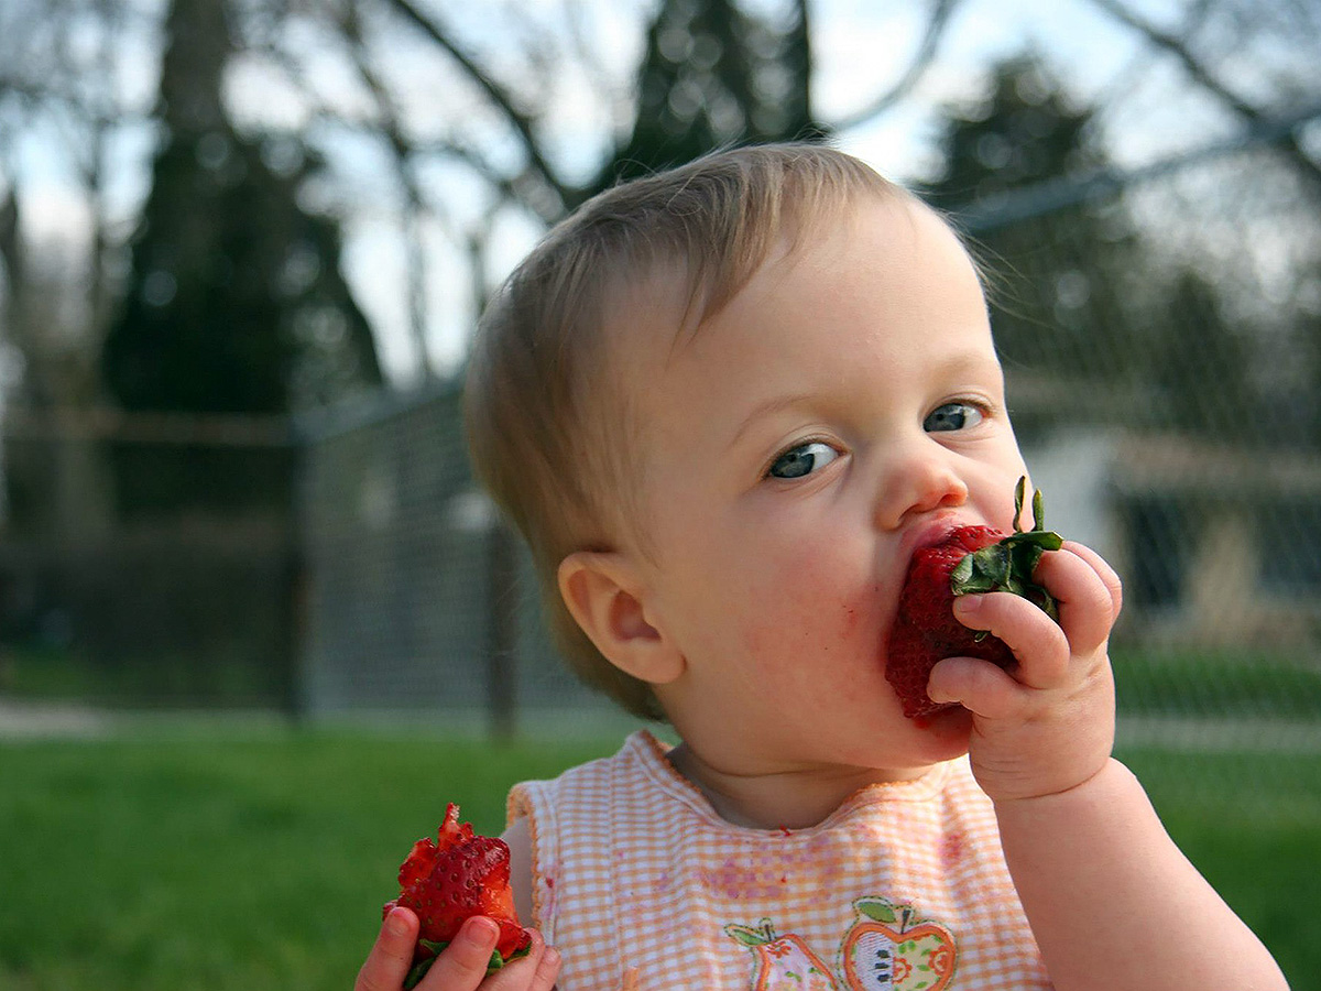
{"label": "half-eaten red strawberry held low, away from the baby's mouth", "polygon": [[421,980],[436,954],[473,916],[486,916],[499,926],[487,973],[526,955],[531,946],[531,937],[514,910],[509,847],[502,839],[476,835],[469,823],[460,823],[453,802],[445,809],[437,839],[417,840],[400,864],[399,888],[399,897],[386,902],[383,916],[403,905],[421,920],[406,988]]}

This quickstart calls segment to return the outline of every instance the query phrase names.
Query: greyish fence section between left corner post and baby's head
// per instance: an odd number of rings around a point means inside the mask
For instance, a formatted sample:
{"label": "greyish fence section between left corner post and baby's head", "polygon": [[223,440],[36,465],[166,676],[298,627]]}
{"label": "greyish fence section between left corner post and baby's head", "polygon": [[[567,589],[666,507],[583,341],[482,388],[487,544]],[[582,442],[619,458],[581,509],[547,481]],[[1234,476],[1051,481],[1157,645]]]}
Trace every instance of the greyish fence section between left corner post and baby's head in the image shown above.
{"label": "greyish fence section between left corner post and baby's head", "polygon": [[610,704],[555,657],[530,559],[474,486],[457,383],[306,429],[312,714],[600,723]]}

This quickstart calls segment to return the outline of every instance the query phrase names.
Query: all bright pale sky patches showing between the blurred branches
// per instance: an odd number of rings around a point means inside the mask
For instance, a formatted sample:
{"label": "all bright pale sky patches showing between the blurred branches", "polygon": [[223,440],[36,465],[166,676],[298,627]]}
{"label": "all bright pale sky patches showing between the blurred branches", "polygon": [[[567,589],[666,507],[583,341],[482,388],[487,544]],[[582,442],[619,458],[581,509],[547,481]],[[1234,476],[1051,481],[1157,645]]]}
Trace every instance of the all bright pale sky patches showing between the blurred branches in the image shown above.
{"label": "all bright pale sky patches showing between the blurred branches", "polygon": [[[773,5],[773,0],[753,0]],[[161,0],[140,0],[149,12]],[[1128,0],[1129,7],[1164,26],[1178,26],[1185,4],[1177,0]],[[638,26],[649,0],[584,0],[585,30],[596,52],[605,53],[605,67],[622,90],[627,87],[641,52]],[[826,120],[847,118],[893,85],[909,62],[925,24],[926,3],[915,0],[818,0],[812,7],[816,111]],[[437,7],[456,32],[474,50],[498,57],[511,48],[507,16],[531,17],[546,25],[563,24],[560,0],[519,0],[513,4],[445,3]],[[124,69],[123,86],[145,95],[155,87],[156,66],[151,40]],[[361,94],[337,67],[318,55],[316,32],[308,29],[301,42],[309,53],[317,85],[343,106]],[[1045,53],[1082,100],[1096,100],[1114,110],[1102,124],[1112,139],[1110,151],[1120,165],[1139,165],[1229,135],[1234,122],[1211,100],[1169,94],[1182,87],[1181,70],[1168,57],[1153,55],[1135,33],[1119,26],[1090,0],[964,0],[942,41],[939,54],[909,98],[863,126],[843,131],[838,143],[848,152],[900,181],[923,177],[933,166],[934,120],[950,103],[976,94],[987,67],[997,58],[1025,48]],[[429,53],[428,53],[429,55]],[[1232,70],[1232,65],[1227,70]],[[408,94],[411,112],[419,120],[437,112],[437,91],[453,92],[446,81],[433,78],[435,59],[407,41],[398,46],[387,71]],[[557,74],[555,92],[556,160],[571,173],[589,174],[606,149],[612,127],[610,110],[593,96],[581,73]],[[1185,90],[1186,92],[1186,90]],[[277,78],[255,63],[239,63],[230,78],[230,96],[240,119],[266,123],[299,123],[297,99],[281,92]],[[462,96],[460,95],[460,99]],[[148,100],[149,102],[149,100]],[[453,110],[453,107],[450,107]],[[473,107],[474,120],[481,111]],[[419,355],[407,333],[403,293],[404,256],[398,238],[398,205],[379,182],[383,163],[370,147],[341,136],[341,174],[347,176],[353,200],[351,219],[345,226],[345,270],[361,305],[378,330],[383,363],[396,382],[416,377]],[[114,152],[116,168],[114,210],[127,230],[147,193],[147,166],[155,143],[148,129],[125,132]],[[86,207],[67,180],[55,143],[40,133],[25,143],[21,170],[26,177],[25,215],[30,231],[48,243],[77,244],[86,231]],[[457,170],[437,172],[427,181],[444,185],[446,209],[460,226],[473,222],[482,190]],[[468,184],[465,188],[464,184]],[[432,366],[446,373],[456,367],[474,313],[464,256],[445,235],[443,223],[428,229],[433,277],[429,280],[431,325],[428,348]],[[501,276],[540,234],[528,218],[505,215],[493,238],[491,275]],[[75,254],[75,250],[70,252]]]}

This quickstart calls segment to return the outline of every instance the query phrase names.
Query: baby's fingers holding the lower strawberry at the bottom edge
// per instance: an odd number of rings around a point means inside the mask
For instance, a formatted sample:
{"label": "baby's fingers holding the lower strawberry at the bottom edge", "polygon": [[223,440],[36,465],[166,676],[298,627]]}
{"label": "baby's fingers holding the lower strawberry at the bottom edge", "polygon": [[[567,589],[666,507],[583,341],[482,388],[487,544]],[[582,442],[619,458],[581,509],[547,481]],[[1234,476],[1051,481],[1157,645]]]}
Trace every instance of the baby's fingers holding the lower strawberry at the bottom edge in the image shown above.
{"label": "baby's fingers holding the lower strawberry at the bottom edge", "polygon": [[[560,955],[546,945],[535,929],[527,957],[486,976],[486,963],[495,949],[498,930],[487,918],[470,918],[458,937],[441,950],[416,991],[551,991],[560,973]],[[400,991],[417,942],[417,916],[396,908],[380,926],[367,954],[354,991]]]}

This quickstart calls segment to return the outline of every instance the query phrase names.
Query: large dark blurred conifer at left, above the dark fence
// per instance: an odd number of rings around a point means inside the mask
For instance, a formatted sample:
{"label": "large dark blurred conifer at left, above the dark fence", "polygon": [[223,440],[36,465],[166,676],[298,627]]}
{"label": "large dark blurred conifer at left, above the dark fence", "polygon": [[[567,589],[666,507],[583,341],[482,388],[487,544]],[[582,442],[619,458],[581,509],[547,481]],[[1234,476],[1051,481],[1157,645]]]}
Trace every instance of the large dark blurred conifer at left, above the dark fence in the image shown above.
{"label": "large dark blurred conifer at left, above the dark fence", "polygon": [[[102,349],[111,396],[129,412],[281,415],[379,386],[370,326],[339,271],[337,225],[299,202],[316,159],[299,152],[272,165],[268,148],[229,120],[229,7],[174,0],[166,32],[164,140]],[[229,455],[118,453],[128,513],[287,498],[279,465],[263,485]]]}

